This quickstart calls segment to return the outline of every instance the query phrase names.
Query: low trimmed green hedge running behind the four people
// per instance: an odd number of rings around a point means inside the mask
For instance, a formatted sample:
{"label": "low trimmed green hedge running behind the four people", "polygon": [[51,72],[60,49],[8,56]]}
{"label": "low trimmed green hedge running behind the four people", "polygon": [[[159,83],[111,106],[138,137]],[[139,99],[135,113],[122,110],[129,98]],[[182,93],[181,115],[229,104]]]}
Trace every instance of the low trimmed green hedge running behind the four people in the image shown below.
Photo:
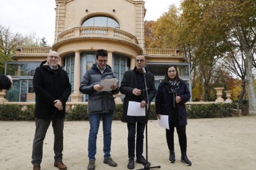
{"label": "low trimmed green hedge running behind the four people", "polygon": [[[209,105],[187,105],[188,118],[223,118],[231,116],[234,103],[225,104],[209,104]],[[22,111],[19,105],[1,105],[0,104],[0,120],[1,121],[20,121],[34,119],[35,105],[28,105],[27,110]],[[122,104],[116,105],[113,119],[121,120]],[[156,119],[155,105],[150,106],[148,119]],[[75,105],[72,110],[66,113],[67,121],[88,120],[87,105]]]}

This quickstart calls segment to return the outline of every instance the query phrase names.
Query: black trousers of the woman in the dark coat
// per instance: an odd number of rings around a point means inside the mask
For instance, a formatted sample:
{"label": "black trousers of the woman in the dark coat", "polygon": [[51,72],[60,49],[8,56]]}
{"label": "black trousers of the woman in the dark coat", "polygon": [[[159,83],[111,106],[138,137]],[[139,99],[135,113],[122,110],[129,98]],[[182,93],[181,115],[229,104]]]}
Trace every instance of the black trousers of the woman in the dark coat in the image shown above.
{"label": "black trousers of the woman in the dark coat", "polygon": [[[187,136],[186,126],[176,127],[177,135],[179,137],[179,147],[181,153],[187,152]],[[170,152],[174,152],[174,126],[170,126],[170,129],[166,129],[166,141]]]}

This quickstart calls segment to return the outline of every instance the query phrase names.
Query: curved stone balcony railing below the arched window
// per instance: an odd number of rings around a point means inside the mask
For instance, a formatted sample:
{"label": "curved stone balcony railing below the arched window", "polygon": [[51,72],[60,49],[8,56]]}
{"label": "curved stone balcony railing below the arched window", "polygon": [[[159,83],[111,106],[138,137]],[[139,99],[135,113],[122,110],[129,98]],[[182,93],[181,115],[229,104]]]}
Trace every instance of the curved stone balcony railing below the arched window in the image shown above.
{"label": "curved stone balcony railing below the arched window", "polygon": [[113,38],[139,44],[137,38],[134,35],[127,33],[126,31],[100,26],[76,27],[70,30],[66,30],[59,34],[58,41],[77,37]]}

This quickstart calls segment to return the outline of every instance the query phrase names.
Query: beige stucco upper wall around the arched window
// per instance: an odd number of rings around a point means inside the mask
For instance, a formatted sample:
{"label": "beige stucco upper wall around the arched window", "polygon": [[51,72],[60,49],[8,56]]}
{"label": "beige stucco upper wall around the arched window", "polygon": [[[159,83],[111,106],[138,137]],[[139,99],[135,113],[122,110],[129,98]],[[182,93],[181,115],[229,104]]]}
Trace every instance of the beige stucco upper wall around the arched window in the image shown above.
{"label": "beige stucco upper wall around the arched window", "polygon": [[105,15],[114,18],[120,30],[133,34],[139,45],[144,46],[144,3],[132,0],[56,0],[55,39],[62,31],[81,26],[87,18]]}

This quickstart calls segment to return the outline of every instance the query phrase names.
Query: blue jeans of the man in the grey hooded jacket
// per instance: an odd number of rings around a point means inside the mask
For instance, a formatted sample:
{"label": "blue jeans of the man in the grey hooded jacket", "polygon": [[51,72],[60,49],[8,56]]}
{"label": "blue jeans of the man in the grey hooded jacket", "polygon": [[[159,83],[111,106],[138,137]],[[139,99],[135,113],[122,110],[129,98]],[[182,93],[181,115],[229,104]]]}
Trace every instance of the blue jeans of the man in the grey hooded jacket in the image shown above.
{"label": "blue jeans of the man in the grey hooded jacket", "polygon": [[100,126],[101,117],[103,121],[104,158],[106,159],[110,157],[111,125],[112,125],[113,113],[100,113],[100,114],[89,115],[89,121],[90,121],[90,133],[89,133],[89,139],[88,139],[89,160],[95,160],[96,149],[97,149],[96,140],[97,140],[97,134]]}

